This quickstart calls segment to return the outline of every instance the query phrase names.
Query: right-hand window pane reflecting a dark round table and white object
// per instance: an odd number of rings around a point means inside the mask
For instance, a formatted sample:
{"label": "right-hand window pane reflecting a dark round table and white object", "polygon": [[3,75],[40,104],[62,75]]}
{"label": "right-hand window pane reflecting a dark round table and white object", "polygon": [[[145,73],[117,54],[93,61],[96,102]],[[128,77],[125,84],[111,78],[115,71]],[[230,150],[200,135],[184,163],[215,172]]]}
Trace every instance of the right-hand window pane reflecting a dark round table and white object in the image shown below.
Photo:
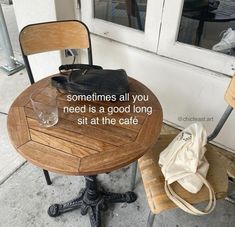
{"label": "right-hand window pane reflecting a dark round table and white object", "polygon": [[235,0],[184,0],[178,41],[235,56]]}

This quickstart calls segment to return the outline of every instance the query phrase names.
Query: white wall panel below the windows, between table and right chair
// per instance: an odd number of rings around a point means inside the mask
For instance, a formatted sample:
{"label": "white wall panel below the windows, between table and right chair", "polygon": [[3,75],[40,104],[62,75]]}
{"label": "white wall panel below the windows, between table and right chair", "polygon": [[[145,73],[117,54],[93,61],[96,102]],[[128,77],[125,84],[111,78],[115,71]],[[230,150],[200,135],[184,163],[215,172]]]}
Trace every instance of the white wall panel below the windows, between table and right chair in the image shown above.
{"label": "white wall panel below the windows, between table and right chair", "polygon": [[[160,100],[164,120],[178,127],[191,121],[179,117],[206,117],[202,122],[210,133],[227,107],[224,93],[230,78],[195,66],[164,58],[92,35],[94,64],[105,68],[124,68],[128,75],[149,87]],[[84,62],[85,62],[84,58]],[[235,151],[235,112],[232,113],[217,144]]]}

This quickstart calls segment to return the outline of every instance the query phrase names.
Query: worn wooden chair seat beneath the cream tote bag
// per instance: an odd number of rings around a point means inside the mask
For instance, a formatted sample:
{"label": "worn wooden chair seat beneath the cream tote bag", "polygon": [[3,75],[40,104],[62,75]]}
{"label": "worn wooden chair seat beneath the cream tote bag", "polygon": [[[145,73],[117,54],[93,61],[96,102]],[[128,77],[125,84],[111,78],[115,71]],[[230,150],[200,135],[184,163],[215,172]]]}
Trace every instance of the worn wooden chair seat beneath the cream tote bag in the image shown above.
{"label": "worn wooden chair seat beneath the cream tote bag", "polygon": [[[175,138],[176,134],[161,135],[153,146],[143,157],[139,159],[140,172],[143,179],[145,192],[149,207],[154,214],[164,210],[177,207],[166,195],[164,190],[164,176],[158,165],[159,154]],[[214,188],[216,198],[226,197],[228,188],[228,178],[226,172],[227,159],[219,153],[220,148],[207,145],[206,158],[210,163],[207,180]],[[177,182],[172,184],[174,191],[191,204],[198,204],[208,200],[208,189],[202,189],[192,194],[186,191]]]}

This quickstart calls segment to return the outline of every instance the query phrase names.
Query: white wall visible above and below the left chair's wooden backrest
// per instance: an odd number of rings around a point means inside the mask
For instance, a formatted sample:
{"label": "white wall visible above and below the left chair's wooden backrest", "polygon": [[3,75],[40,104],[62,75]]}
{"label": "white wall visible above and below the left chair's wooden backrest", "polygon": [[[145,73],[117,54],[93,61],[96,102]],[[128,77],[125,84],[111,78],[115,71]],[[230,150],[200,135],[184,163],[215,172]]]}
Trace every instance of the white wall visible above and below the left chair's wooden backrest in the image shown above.
{"label": "white wall visible above and below the left chair's wooden backrest", "polygon": [[[74,0],[13,0],[19,31],[28,24],[74,19]],[[35,81],[58,72],[61,65],[58,51],[29,57]]]}

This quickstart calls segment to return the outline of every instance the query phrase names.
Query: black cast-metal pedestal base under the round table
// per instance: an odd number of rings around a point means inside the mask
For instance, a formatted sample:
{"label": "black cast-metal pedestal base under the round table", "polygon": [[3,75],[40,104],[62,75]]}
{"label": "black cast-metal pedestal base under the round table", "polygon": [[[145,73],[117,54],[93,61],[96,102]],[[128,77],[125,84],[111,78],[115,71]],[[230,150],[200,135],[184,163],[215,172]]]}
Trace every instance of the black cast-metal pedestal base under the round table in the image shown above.
{"label": "black cast-metal pedestal base under the round table", "polygon": [[107,210],[108,203],[132,203],[137,199],[134,192],[126,192],[124,194],[111,193],[97,190],[96,176],[87,176],[86,188],[79,192],[79,196],[71,201],[63,204],[53,204],[48,209],[51,217],[59,216],[62,213],[81,209],[81,214],[89,213],[91,227],[101,226],[101,210]]}

